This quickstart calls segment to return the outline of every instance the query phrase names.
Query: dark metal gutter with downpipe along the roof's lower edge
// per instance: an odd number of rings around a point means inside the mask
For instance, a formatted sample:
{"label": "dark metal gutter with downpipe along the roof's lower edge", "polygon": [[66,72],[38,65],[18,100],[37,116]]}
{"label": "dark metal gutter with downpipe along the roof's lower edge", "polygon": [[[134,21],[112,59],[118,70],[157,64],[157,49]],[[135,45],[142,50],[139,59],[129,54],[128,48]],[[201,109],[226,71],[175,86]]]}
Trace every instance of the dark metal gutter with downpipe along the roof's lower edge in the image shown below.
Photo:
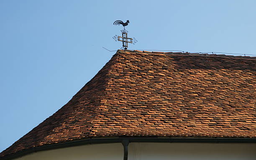
{"label": "dark metal gutter with downpipe along the roof's lower edge", "polygon": [[256,143],[256,138],[93,138],[34,147],[7,155],[0,158],[0,160],[12,160],[39,151],[101,143],[122,143],[124,147],[124,160],[127,160],[129,143]]}

